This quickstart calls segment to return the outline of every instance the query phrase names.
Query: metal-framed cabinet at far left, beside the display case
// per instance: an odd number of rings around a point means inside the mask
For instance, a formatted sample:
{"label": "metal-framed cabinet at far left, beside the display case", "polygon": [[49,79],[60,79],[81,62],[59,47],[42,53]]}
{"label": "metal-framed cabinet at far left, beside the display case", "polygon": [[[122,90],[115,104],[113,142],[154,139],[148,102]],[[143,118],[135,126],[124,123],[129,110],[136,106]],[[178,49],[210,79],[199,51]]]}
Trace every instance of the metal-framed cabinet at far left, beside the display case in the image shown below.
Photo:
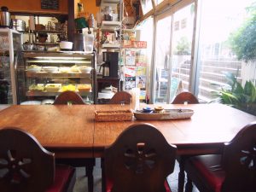
{"label": "metal-framed cabinet at far left, beside the display case", "polygon": [[17,104],[16,66],[20,61],[22,34],[0,28],[0,104]]}

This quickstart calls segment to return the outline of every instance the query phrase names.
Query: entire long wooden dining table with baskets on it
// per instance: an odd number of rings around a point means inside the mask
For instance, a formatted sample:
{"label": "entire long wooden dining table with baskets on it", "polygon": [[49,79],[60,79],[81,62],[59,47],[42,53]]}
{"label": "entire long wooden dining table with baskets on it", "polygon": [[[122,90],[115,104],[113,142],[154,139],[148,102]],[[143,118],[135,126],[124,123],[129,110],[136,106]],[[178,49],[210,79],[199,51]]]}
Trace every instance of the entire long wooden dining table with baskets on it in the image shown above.
{"label": "entire long wooden dining table with baskets on it", "polygon": [[[141,104],[140,108],[146,104]],[[147,105],[154,108],[156,105]],[[104,157],[110,146],[129,125],[154,125],[168,143],[177,146],[177,155],[215,154],[222,151],[256,116],[222,104],[158,104],[165,109],[192,109],[189,119],[97,122],[96,111],[130,109],[130,105],[13,105],[0,111],[0,129],[19,127],[36,137],[56,158]],[[180,162],[183,181],[183,165]],[[183,190],[183,182],[179,191]],[[103,186],[102,186],[103,187]]]}

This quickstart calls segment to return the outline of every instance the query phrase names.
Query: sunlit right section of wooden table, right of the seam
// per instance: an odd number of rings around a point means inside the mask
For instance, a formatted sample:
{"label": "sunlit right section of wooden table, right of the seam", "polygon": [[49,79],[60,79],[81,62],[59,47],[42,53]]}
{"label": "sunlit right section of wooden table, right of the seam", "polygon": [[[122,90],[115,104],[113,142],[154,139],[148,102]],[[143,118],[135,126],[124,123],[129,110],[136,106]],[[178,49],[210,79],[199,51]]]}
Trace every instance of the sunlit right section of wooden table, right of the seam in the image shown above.
{"label": "sunlit right section of wooden table, right of the seam", "polygon": [[[150,106],[150,105],[149,105]],[[191,119],[125,122],[97,122],[94,134],[94,155],[102,157],[103,148],[131,124],[149,123],[177,145],[177,154],[218,153],[223,143],[229,142],[241,128],[255,121],[256,116],[222,104],[162,105],[164,108],[190,108],[195,111]],[[153,106],[151,106],[153,107]],[[96,105],[96,110],[129,108],[129,106]]]}

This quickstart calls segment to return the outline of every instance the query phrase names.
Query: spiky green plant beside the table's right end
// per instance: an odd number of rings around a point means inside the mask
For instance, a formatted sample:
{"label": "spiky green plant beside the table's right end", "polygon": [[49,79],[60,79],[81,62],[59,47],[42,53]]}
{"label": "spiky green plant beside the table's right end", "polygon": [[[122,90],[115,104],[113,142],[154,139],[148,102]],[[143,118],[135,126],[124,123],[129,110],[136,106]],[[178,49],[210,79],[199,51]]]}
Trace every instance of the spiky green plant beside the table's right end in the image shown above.
{"label": "spiky green plant beside the table's right end", "polygon": [[214,92],[218,102],[230,105],[233,108],[256,115],[256,86],[252,81],[247,81],[244,86],[237,81],[233,73],[225,73],[227,86]]}

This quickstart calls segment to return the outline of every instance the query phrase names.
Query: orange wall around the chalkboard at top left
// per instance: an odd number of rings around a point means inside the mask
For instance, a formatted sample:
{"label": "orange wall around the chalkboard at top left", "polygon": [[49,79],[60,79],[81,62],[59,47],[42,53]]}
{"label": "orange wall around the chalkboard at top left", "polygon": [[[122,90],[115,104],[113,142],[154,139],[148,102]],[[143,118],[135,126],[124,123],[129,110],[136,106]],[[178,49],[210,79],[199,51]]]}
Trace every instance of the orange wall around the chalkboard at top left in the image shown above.
{"label": "orange wall around the chalkboard at top left", "polygon": [[50,14],[66,14],[67,0],[59,0],[59,10],[41,9],[41,0],[1,0],[0,7],[6,6],[10,12],[20,13],[50,13]]}

